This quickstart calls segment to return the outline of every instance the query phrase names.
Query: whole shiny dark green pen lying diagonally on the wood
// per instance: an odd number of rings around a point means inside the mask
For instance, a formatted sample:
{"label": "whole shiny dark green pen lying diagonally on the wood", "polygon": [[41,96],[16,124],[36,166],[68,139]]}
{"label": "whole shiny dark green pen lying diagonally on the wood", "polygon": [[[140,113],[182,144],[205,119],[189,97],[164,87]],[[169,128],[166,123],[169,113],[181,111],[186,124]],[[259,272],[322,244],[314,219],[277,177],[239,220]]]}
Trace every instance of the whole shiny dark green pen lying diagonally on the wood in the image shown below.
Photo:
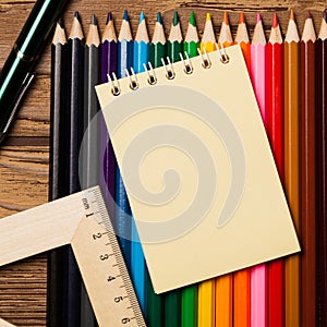
{"label": "whole shiny dark green pen lying diagonally on the wood", "polygon": [[33,69],[66,0],[38,0],[0,74],[0,142],[34,77]]}

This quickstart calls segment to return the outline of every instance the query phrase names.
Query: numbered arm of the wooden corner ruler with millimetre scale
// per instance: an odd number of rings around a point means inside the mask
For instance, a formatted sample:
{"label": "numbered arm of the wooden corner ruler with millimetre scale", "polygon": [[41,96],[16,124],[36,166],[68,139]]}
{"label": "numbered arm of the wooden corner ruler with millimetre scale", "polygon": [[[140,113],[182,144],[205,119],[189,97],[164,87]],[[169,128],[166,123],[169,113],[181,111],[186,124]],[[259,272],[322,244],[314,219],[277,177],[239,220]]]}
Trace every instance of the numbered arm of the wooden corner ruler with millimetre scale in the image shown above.
{"label": "numbered arm of the wooden corner ruler with millimetre scale", "polygon": [[72,246],[98,324],[145,326],[100,190],[83,195],[85,219]]}

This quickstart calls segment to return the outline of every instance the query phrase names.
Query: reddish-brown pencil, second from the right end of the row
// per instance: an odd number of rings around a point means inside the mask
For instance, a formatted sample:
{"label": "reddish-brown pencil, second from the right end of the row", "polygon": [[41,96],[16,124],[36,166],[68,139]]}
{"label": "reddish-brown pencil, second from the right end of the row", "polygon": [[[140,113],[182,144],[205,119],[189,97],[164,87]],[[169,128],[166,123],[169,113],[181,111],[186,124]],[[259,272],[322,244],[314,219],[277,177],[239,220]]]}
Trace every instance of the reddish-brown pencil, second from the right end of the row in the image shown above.
{"label": "reddish-brown pencil, second from the right end of the row", "polygon": [[303,327],[316,326],[315,41],[311,13],[301,40],[301,308]]}

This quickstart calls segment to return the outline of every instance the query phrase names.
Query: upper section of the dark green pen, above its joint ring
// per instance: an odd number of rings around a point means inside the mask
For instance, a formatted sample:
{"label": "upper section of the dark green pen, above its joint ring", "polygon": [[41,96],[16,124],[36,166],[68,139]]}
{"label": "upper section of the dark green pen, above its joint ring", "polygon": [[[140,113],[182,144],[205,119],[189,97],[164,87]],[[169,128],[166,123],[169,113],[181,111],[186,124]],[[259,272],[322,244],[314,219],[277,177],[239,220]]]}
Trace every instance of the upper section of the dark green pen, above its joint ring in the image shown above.
{"label": "upper section of the dark green pen, above its joint ring", "polygon": [[40,52],[66,0],[38,0],[35,3],[15,43],[15,48],[27,60],[35,60]]}

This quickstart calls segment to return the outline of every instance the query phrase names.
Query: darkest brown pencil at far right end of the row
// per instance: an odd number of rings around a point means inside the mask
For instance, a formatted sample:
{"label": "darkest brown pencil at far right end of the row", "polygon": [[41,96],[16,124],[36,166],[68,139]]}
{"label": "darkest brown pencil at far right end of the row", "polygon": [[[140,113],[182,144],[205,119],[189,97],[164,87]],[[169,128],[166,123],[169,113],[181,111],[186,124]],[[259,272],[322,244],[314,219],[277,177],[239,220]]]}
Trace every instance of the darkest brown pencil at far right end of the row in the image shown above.
{"label": "darkest brown pencil at far right end of the row", "polygon": [[317,316],[327,326],[327,10],[316,41]]}

